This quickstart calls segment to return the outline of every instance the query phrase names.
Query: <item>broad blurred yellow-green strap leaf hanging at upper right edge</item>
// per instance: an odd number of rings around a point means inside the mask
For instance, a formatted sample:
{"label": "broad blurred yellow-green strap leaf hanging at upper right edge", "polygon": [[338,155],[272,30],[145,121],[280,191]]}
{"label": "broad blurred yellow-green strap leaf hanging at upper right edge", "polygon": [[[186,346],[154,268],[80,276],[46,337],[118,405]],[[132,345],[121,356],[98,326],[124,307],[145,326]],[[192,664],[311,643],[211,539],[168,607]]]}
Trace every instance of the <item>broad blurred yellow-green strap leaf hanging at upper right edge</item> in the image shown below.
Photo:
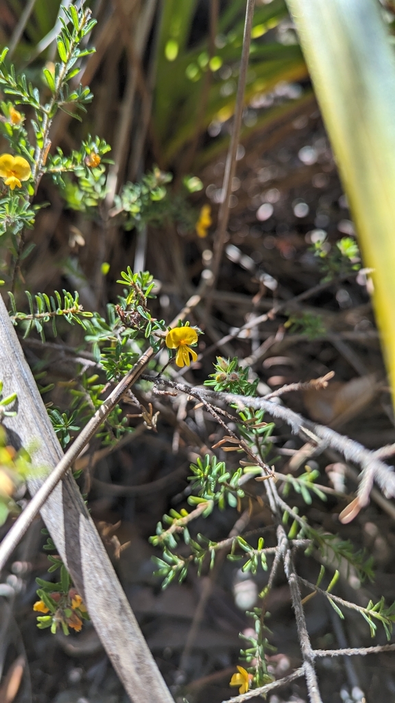
{"label": "broad blurred yellow-green strap leaf hanging at upper right edge", "polygon": [[395,395],[395,56],[375,0],[287,0],[364,265]]}

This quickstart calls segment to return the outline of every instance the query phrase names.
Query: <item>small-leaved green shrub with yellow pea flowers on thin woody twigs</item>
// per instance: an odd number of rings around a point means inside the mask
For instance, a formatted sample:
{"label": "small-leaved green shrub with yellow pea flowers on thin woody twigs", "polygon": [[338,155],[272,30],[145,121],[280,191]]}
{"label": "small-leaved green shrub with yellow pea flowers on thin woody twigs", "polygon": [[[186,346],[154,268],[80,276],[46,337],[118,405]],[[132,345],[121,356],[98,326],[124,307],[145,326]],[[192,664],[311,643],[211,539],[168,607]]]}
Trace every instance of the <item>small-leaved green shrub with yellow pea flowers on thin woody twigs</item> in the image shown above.
{"label": "small-leaved green shrub with yellow pea flowers on thin woody twigs", "polygon": [[[297,474],[276,471],[279,457],[276,422],[267,418],[279,417],[274,410],[277,406],[272,403],[268,407],[268,400],[273,401],[273,398],[266,398],[266,406],[259,407],[259,378],[254,378],[252,369],[241,366],[237,356],[232,359],[219,356],[214,372],[202,386],[194,388],[174,380],[179,380],[180,368],[198,361],[195,348],[202,330],[181,318],[168,328],[164,320],[154,316],[150,302],[155,298],[156,284],[150,272],[134,272],[130,266],[125,266],[126,270],[119,273],[117,280],[122,287],[117,302],[108,304],[105,315],[95,309],[85,311],[79,302],[79,292],[66,288],[62,292],[54,290],[51,295],[30,290],[25,291],[25,298],[20,295],[24,262],[34,247],[37,212],[48,207],[47,203],[34,202],[42,178],[51,179],[67,207],[84,214],[86,219],[100,221],[103,226],[108,226],[109,221],[118,222],[124,231],[130,232],[143,231],[148,224],[162,226],[176,222],[181,231],[193,231],[196,227],[197,236],[203,239],[212,224],[209,206],[203,206],[197,214],[188,201],[188,194],[201,191],[203,187],[195,176],[187,176],[181,188],[169,192],[167,185],[171,174],[153,165],[138,182],[124,184],[108,208],[105,204],[108,194],[106,164],[110,161],[105,155],[110,146],[103,139],[88,135],[79,150],[72,150],[70,155],[65,155],[60,148],[51,153],[49,134],[58,110],[83,120],[84,105],[93,98],[89,88],[76,86],[74,79],[81,59],[94,51],[86,48],[84,40],[95,20],[91,19],[91,11],[83,2],[78,7],[71,4],[63,11],[65,16],[57,37],[58,61],[53,67],[44,67],[46,88],[41,91],[42,95],[27,82],[25,75],[16,74],[13,65],[8,64],[6,50],[0,56],[0,84],[6,96],[0,103],[3,113],[0,129],[12,152],[0,155],[0,236],[9,257],[8,270],[4,266],[4,278],[11,288],[8,294],[11,320],[23,338],[35,332],[43,343],[47,337],[56,340],[58,333],[61,337],[66,325],[75,326],[79,332],[75,336],[76,348],[68,350],[77,367],[75,373],[69,374],[70,378],[63,382],[59,406],[53,405],[51,400],[47,403],[60,444],[65,448],[75,439],[77,432],[103,405],[108,389],[130,373],[148,349],[155,355],[166,348],[168,363],[163,365],[162,355],[158,354],[156,359],[152,356],[147,364],[148,373],[137,385],[148,407],[129,390],[96,432],[95,446],[101,449],[117,446],[122,437],[135,431],[131,417],[143,418],[144,426],[155,431],[157,414],[154,415],[151,404],[155,394],[181,394],[186,397],[186,403],[193,401],[195,408],[205,408],[216,423],[216,441],[210,448],[203,446],[190,463],[190,486],[183,496],[188,496],[186,504],[190,510],[171,508],[158,522],[150,543],[161,550],[161,555],[153,560],[155,575],[163,588],[172,581],[184,581],[191,568],[196,568],[198,575],[209,574],[221,564],[223,555],[238,565],[242,574],[256,576],[267,572],[266,586],[259,593],[259,606],[247,612],[253,633],[241,634],[244,647],[240,661],[245,666],[238,666],[231,685],[240,687],[240,695],[243,695],[273,681],[268,657],[275,647],[271,645],[271,631],[266,624],[270,615],[266,604],[281,562],[290,584],[301,642],[309,643],[303,605],[317,596],[325,598],[341,619],[344,619],[344,611],[354,610],[368,623],[371,636],[375,636],[377,626],[381,625],[389,640],[395,604],[387,606],[381,598],[376,603],[370,600],[363,607],[332,593],[344,573],[352,572],[358,583],[373,579],[373,560],[362,550],[356,550],[351,541],[313,527],[304,515],[304,509],[313,501],[327,499],[328,486],[320,470],[304,464]],[[266,17],[266,9],[260,12]],[[281,15],[283,9],[278,12]],[[267,29],[266,25],[261,25],[262,33]],[[231,43],[231,38],[226,41]],[[173,56],[171,51],[176,52],[175,43],[173,38],[166,44],[169,60]],[[206,61],[200,56],[197,61],[198,65],[190,63],[186,68],[190,81],[195,80],[194,75],[200,77],[209,58],[207,56]],[[32,132],[27,129],[28,119]],[[29,231],[33,231],[32,236]],[[324,246],[324,240],[317,238],[313,243],[313,252],[320,259],[325,276],[323,283],[358,271],[358,247],[352,238],[342,238],[332,248]],[[291,333],[300,332],[309,339],[325,334],[321,318],[308,312],[291,314],[284,326]],[[45,370],[35,370],[37,381],[45,384],[40,387],[41,393],[50,394],[53,385],[47,382]],[[325,387],[325,380],[318,381],[318,387]],[[284,392],[287,390],[285,387]],[[0,420],[15,412],[7,409],[8,406],[13,408],[14,401],[13,395],[0,400]],[[125,411],[127,404],[135,406],[138,414],[129,415]],[[289,418],[290,426],[295,427],[291,415]],[[309,427],[307,430],[302,427],[302,430],[304,439],[313,441],[316,446],[319,444],[319,437],[313,430]],[[28,475],[29,457],[25,450],[13,451],[6,444],[4,433],[0,434],[0,456],[0,524],[3,524],[9,513],[16,514],[20,510],[15,496],[18,497],[22,479]],[[340,497],[344,498],[344,494]],[[216,510],[234,510],[237,526],[243,516],[247,524],[250,516],[264,508],[271,515],[271,524],[262,521],[261,527],[250,531],[241,526],[220,541],[195,530],[195,524],[201,526],[202,520],[208,521]],[[195,521],[198,522],[194,524]],[[56,550],[50,537],[44,550]],[[294,560],[301,552],[309,560],[311,572],[318,572],[315,580],[308,581],[297,574]],[[37,579],[39,600],[33,608],[40,613],[38,626],[50,628],[52,633],[60,629],[65,635],[70,628],[78,632],[89,619],[82,596],[74,588],[60,557],[51,554],[48,560],[48,572],[53,574],[59,570],[60,576],[59,581]],[[299,591],[302,588],[306,591],[304,598]],[[310,643],[308,646],[311,649]],[[304,661],[306,678],[311,683],[315,673],[311,664],[313,657],[310,659],[307,657]]]}

